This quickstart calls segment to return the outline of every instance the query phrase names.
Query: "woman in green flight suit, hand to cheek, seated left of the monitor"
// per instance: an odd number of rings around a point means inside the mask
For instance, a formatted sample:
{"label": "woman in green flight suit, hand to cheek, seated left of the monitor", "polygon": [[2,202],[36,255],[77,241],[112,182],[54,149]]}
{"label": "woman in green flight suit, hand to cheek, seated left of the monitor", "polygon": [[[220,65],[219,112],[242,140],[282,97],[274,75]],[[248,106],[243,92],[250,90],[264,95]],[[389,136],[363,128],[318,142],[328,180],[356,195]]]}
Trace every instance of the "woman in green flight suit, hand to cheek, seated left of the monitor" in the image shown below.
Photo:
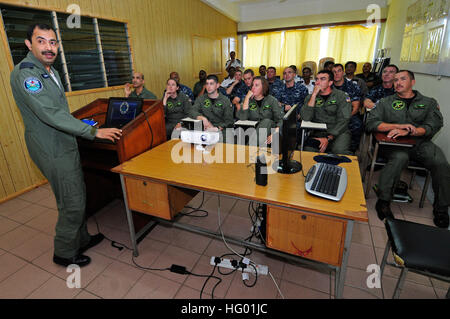
{"label": "woman in green flight suit, hand to cheek, seated left of the monitor", "polygon": [[[236,112],[240,120],[258,121],[258,137],[267,137],[267,144],[272,142],[271,129],[279,128],[283,122],[283,112],[276,98],[269,95],[269,83],[261,76],[253,79],[252,88],[245,96],[242,107]],[[261,130],[265,130],[261,133]]]}

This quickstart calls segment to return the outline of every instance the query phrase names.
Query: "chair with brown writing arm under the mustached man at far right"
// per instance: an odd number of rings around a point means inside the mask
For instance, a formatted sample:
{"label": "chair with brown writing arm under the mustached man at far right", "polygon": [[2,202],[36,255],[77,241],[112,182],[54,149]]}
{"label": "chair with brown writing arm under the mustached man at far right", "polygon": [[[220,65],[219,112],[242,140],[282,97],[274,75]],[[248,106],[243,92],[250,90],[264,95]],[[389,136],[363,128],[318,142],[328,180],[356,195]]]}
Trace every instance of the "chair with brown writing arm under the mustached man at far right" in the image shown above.
{"label": "chair with brown writing arm under the mustached man at far right", "polygon": [[[384,137],[386,137],[386,134],[384,133],[374,133],[374,134],[370,134],[370,138],[369,138],[369,142],[367,143],[367,154],[363,160],[363,163],[361,165],[361,169],[364,170],[364,172],[362,173],[362,180],[363,182],[366,179],[366,174],[367,174],[367,162],[368,160],[370,160],[370,171],[369,171],[369,179],[366,182],[366,189],[364,191],[364,195],[367,198],[369,195],[369,191],[370,188],[372,186],[372,177],[373,177],[373,171],[375,168],[375,165],[386,165],[387,160],[381,156],[379,156],[378,151],[380,146],[383,145],[390,145],[390,146],[396,146],[396,147],[412,147],[413,144],[408,143],[407,140],[405,140],[405,142],[401,142],[401,140],[399,139],[398,142],[393,142],[386,140]],[[373,146],[373,138],[375,138],[375,146]],[[424,171],[426,173],[426,178],[425,178],[425,185],[423,187],[422,190],[422,195],[420,197],[420,202],[419,202],[419,207],[423,208],[423,204],[425,202],[425,196],[427,194],[427,190],[428,190],[428,186],[430,184],[430,171],[427,170],[423,165],[416,163],[414,161],[410,161],[408,163],[408,169],[411,169],[413,171],[413,174],[411,176],[411,181],[409,183],[409,188],[412,187],[412,182],[414,180],[415,177],[415,173],[416,171]]]}

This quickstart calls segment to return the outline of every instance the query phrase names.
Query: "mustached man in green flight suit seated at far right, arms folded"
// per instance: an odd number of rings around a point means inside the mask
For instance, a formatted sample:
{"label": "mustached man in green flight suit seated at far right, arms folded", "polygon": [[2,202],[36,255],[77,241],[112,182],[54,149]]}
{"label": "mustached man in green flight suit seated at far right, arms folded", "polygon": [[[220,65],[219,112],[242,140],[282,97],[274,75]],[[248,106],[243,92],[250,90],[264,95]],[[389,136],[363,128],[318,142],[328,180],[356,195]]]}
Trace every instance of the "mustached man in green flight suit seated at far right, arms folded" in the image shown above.
{"label": "mustached man in green flight suit seated at far right, arms folded", "polygon": [[411,148],[384,147],[388,162],[378,182],[378,217],[393,217],[390,208],[394,186],[409,160],[423,164],[431,172],[434,191],[434,223],[448,228],[450,205],[450,165],[442,150],[431,139],[443,126],[443,117],[435,99],[413,90],[414,73],[401,70],[395,74],[395,94],[381,99],[367,118],[367,131],[386,132],[389,138],[409,136],[416,141]]}

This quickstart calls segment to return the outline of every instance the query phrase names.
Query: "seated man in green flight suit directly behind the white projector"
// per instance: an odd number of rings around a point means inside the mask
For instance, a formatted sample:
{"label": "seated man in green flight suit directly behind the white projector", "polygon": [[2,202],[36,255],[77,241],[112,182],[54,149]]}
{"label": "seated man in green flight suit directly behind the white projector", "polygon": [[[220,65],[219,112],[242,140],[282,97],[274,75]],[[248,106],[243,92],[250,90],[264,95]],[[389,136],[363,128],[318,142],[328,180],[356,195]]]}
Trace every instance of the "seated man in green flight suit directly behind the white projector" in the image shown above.
{"label": "seated man in green flight suit directly behind the white projector", "polygon": [[233,107],[230,100],[218,91],[220,84],[216,75],[206,78],[206,92],[199,96],[191,108],[190,117],[203,121],[203,128],[210,131],[221,131],[225,140],[225,129],[232,127]]}

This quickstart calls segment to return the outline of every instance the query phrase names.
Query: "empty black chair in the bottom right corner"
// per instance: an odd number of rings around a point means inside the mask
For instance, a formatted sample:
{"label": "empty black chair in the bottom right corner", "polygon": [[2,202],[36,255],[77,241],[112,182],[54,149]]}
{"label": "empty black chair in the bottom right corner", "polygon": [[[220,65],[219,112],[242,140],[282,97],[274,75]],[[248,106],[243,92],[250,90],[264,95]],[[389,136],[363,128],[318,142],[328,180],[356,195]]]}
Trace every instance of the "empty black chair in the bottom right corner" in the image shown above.
{"label": "empty black chair in the bottom right corner", "polygon": [[[405,220],[386,218],[388,242],[380,266],[380,280],[386,264],[401,268],[392,296],[400,297],[408,271],[450,282],[450,231]],[[394,262],[387,263],[392,249]],[[450,299],[450,288],[446,298]]]}

